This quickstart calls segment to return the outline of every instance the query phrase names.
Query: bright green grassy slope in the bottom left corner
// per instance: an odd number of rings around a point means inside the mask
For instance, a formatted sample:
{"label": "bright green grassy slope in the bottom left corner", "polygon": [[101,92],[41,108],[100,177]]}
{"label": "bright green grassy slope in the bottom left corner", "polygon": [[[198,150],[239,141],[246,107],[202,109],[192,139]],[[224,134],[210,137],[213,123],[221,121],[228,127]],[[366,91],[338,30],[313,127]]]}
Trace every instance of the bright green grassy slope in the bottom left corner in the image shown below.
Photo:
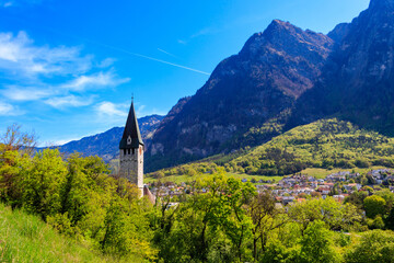
{"label": "bright green grassy slope in the bottom left corner", "polygon": [[59,235],[39,217],[0,204],[0,262],[119,262]]}

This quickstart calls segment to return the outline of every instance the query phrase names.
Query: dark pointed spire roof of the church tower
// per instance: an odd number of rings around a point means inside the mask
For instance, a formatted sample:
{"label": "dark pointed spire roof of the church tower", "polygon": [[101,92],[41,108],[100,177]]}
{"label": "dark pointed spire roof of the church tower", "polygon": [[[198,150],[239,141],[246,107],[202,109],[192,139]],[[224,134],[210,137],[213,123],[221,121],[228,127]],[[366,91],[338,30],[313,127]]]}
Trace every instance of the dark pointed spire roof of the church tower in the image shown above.
{"label": "dark pointed spire roof of the church tower", "polygon": [[140,145],[143,146],[143,142],[138,127],[134,101],[131,101],[131,106],[127,117],[124,135],[119,144],[119,149],[136,149],[139,148]]}

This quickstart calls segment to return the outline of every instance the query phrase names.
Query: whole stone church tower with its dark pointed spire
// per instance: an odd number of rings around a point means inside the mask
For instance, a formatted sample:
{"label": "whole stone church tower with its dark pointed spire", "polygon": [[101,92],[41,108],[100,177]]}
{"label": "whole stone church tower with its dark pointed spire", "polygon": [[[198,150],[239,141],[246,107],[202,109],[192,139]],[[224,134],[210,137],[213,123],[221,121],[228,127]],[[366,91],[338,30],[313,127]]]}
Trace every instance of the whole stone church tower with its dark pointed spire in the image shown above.
{"label": "whole stone church tower with its dark pointed spire", "polygon": [[143,150],[134,101],[127,117],[125,130],[119,144],[119,174],[136,184],[143,195]]}

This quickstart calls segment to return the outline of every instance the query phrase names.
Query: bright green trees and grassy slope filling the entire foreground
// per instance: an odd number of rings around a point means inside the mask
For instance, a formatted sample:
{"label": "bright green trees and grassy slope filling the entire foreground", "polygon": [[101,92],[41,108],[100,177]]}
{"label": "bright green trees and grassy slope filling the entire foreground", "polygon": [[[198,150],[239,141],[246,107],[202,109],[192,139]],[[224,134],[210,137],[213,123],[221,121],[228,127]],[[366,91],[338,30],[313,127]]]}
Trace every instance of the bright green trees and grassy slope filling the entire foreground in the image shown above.
{"label": "bright green trees and grassy slope filling the entire foreground", "polygon": [[151,205],[102,159],[30,155],[14,144],[30,138],[15,135],[0,144],[2,262],[393,262],[387,188],[285,208],[212,163],[188,191]]}

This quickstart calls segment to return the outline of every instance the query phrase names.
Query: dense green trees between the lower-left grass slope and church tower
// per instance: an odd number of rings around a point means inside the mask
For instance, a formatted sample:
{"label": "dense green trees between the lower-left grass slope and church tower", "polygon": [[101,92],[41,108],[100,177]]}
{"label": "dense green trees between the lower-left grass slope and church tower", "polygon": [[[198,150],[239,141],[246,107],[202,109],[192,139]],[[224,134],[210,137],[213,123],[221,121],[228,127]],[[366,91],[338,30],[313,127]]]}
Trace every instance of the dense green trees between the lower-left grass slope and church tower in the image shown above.
{"label": "dense green trees between the lower-left grass slope and church tower", "polygon": [[38,215],[60,233],[121,259],[153,261],[152,230],[146,219],[152,207],[124,179],[109,176],[97,157],[57,149],[30,157],[0,145],[1,199]]}

